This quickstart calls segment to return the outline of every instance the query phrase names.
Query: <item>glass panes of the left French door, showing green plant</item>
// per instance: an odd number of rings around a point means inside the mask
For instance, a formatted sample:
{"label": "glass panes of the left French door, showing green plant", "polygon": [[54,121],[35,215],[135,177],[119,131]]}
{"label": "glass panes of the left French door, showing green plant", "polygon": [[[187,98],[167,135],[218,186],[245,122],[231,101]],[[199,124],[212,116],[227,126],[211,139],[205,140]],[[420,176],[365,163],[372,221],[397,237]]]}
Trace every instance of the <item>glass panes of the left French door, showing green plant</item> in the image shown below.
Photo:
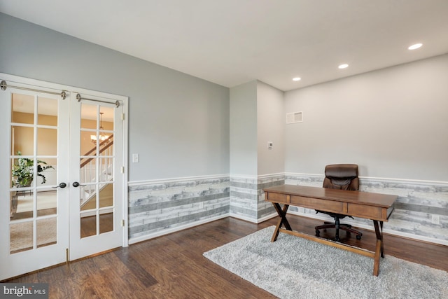
{"label": "glass panes of the left French door, showing green plant", "polygon": [[10,253],[57,243],[58,100],[13,93]]}

